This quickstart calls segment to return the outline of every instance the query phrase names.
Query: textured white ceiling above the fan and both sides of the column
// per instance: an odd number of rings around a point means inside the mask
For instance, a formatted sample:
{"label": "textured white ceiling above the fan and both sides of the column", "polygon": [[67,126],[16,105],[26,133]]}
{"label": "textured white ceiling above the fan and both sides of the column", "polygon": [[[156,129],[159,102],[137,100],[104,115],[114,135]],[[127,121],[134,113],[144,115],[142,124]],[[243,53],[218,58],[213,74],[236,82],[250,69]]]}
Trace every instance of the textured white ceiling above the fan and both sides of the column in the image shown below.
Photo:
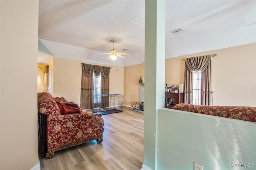
{"label": "textured white ceiling above the fan and both sides of the column", "polygon": [[[118,65],[129,66],[144,63],[144,18],[144,0],[40,0],[38,37],[102,53],[116,39],[115,49],[131,54]],[[166,0],[166,59],[254,43],[253,22],[255,0]],[[177,28],[183,31],[170,32]],[[51,44],[45,45],[53,53]],[[90,62],[104,63],[107,57]]]}

